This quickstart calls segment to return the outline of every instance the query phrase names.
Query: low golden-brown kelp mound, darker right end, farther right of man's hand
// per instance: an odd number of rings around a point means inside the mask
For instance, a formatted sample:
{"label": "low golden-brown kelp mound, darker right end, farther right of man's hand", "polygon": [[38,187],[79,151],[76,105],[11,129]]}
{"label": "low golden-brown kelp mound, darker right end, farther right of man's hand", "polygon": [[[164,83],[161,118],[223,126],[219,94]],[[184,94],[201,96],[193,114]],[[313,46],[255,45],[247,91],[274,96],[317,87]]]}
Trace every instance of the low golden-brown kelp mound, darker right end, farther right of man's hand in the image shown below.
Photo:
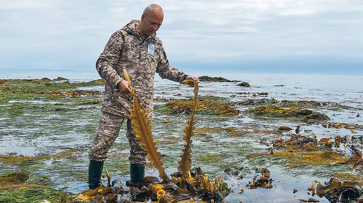
{"label": "low golden-brown kelp mound, darker right end, farther right of man's hand", "polygon": [[270,117],[304,117],[305,119],[328,120],[328,116],[308,109],[299,107],[281,108],[277,106],[259,106],[250,110],[256,116]]}

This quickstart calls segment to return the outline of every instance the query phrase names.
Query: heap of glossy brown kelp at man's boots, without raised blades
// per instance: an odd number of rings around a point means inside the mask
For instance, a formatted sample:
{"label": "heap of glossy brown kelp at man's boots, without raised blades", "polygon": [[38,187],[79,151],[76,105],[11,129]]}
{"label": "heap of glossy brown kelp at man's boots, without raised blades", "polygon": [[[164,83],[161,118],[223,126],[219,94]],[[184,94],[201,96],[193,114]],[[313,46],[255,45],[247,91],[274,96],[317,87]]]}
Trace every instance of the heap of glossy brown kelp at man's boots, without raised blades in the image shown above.
{"label": "heap of glossy brown kelp at man's boots, without raised blades", "polygon": [[[173,181],[162,181],[156,177],[145,177],[143,181],[131,186],[130,190],[125,190],[123,185],[115,186],[120,180],[112,181],[110,186],[100,186],[96,189],[88,189],[68,198],[72,201],[82,200],[92,203],[131,203],[131,202],[152,202],[172,203],[172,202],[221,202],[231,190],[227,184],[218,176],[210,180],[202,169],[195,168],[188,171],[187,179],[182,177],[181,172],[171,175]],[[110,182],[111,176],[107,176]],[[180,187],[184,181],[185,186]],[[121,183],[121,182],[120,182]],[[126,184],[129,184],[128,181]],[[130,194],[128,200],[124,194]]]}

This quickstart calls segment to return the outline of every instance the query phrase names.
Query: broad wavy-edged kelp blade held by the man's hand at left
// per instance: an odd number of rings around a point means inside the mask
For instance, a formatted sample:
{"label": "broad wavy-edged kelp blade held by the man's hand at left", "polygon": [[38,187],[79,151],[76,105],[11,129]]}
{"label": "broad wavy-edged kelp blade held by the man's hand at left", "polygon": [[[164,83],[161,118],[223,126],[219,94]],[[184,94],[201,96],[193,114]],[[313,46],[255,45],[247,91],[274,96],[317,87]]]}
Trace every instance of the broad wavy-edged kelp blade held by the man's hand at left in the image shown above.
{"label": "broad wavy-edged kelp blade held by the man's hand at left", "polygon": [[[131,85],[131,81],[126,69],[123,69],[126,80]],[[135,93],[132,88],[134,104],[133,109],[131,109],[131,124],[134,125],[134,131],[136,137],[139,139],[140,144],[144,152],[147,153],[150,161],[153,163],[155,168],[159,171],[159,177],[162,179],[169,179],[168,175],[165,173],[163,167],[163,162],[161,161],[160,152],[157,152],[156,142],[151,134],[150,120],[146,119],[146,111],[140,109],[138,101],[135,97]]]}

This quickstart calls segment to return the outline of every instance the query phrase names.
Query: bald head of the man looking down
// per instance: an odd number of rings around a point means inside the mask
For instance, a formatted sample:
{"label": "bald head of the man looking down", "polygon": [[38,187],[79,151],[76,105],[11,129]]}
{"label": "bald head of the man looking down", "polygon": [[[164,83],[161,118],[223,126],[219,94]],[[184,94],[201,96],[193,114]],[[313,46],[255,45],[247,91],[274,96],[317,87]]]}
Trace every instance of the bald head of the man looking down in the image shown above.
{"label": "bald head of the man looking down", "polygon": [[141,36],[154,34],[161,26],[164,19],[164,11],[157,4],[148,5],[141,16],[141,22],[138,25]]}

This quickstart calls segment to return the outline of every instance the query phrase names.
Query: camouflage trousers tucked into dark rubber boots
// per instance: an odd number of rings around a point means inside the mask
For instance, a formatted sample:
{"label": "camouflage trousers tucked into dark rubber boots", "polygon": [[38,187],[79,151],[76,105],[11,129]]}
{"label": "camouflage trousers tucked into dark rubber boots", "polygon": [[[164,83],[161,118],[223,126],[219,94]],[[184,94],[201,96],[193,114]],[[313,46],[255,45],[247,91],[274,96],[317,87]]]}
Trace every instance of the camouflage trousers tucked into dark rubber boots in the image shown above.
{"label": "camouflage trousers tucked into dark rubber boots", "polygon": [[[120,128],[125,118],[102,111],[93,144],[89,149],[89,160],[104,161],[107,159],[106,153],[119,136]],[[136,138],[131,120],[126,122],[126,137],[129,140],[130,155],[129,161],[132,164],[145,164],[146,153]]]}

